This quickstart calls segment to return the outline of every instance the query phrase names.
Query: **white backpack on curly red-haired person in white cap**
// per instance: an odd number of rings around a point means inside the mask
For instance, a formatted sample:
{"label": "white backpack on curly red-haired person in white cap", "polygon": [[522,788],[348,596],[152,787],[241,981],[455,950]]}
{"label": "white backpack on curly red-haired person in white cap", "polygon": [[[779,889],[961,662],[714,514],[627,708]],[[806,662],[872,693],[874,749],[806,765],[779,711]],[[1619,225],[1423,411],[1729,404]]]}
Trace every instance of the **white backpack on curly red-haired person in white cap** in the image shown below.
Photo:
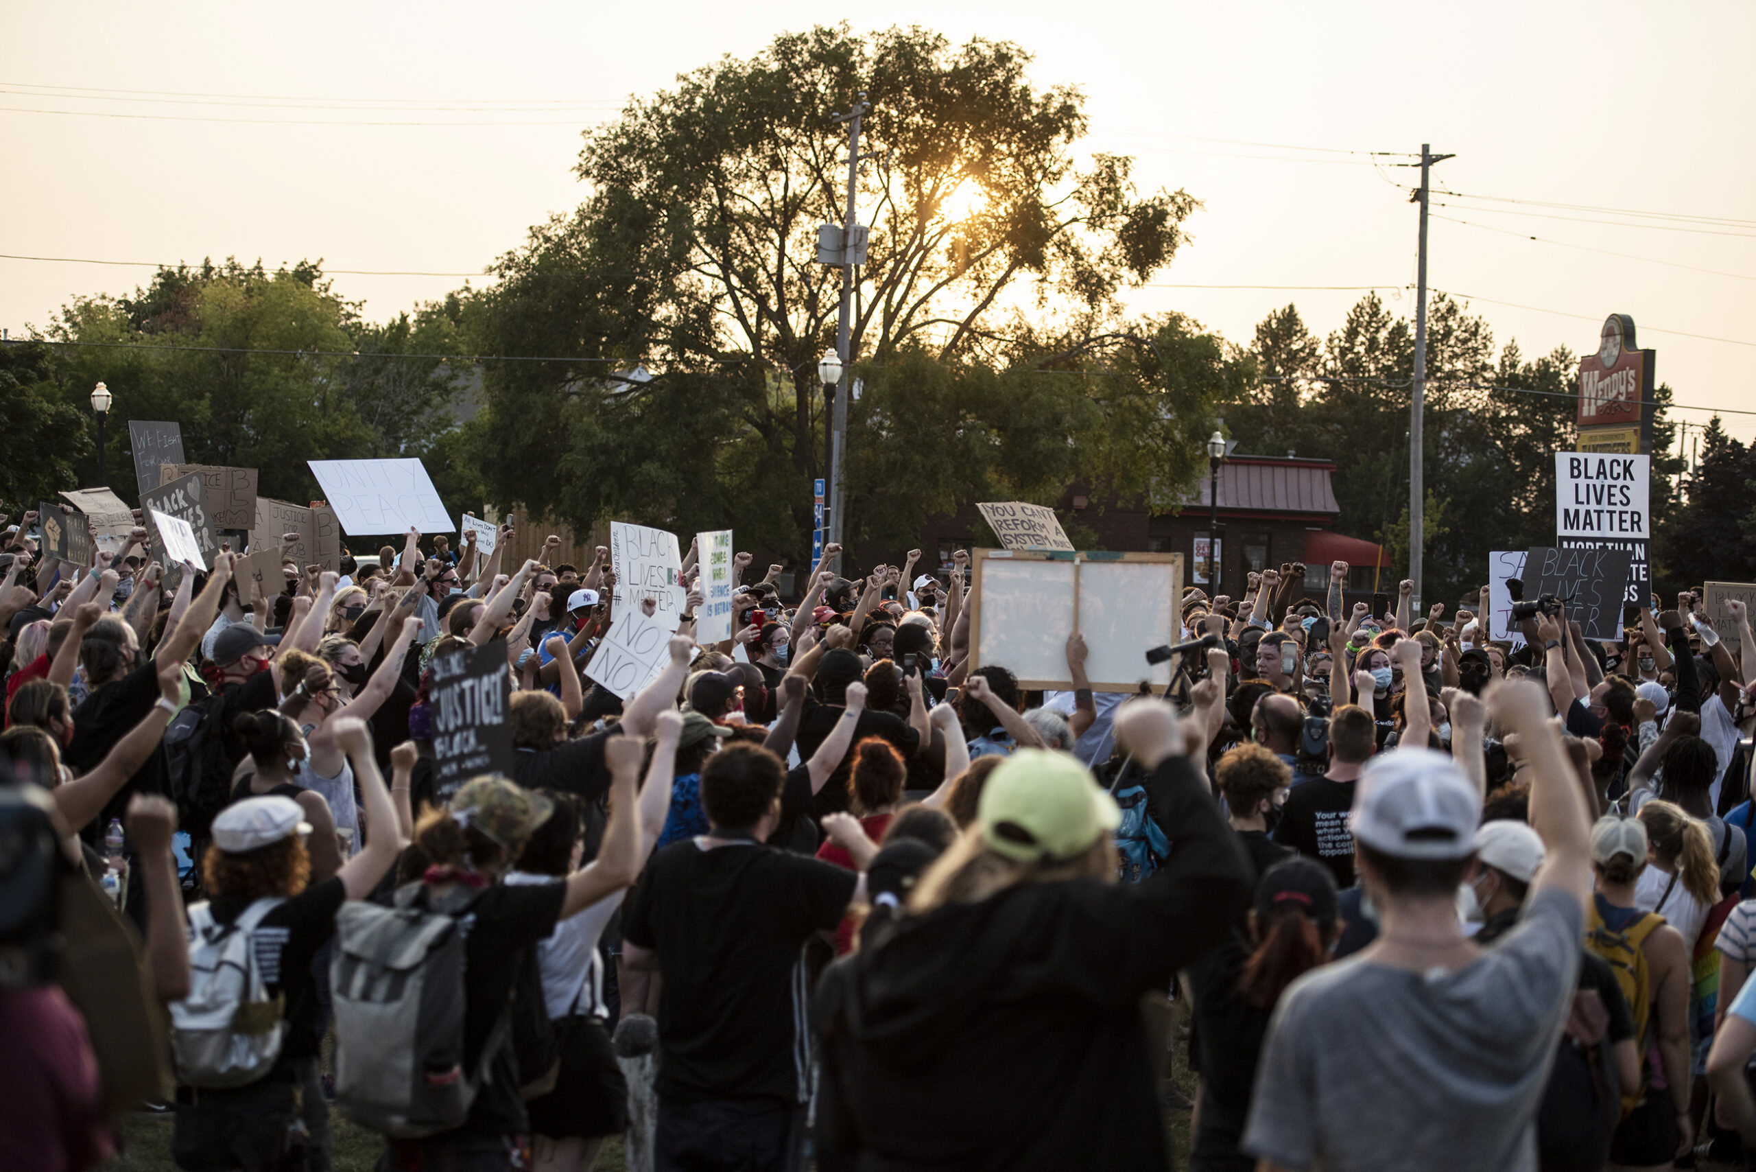
{"label": "white backpack on curly red-haired person in white cap", "polygon": [[284,996],[269,998],[251,947],[251,933],[281,903],[256,900],[232,924],[218,922],[211,903],[190,908],[190,995],[170,1003],[170,1056],[184,1086],[244,1086],[281,1056]]}

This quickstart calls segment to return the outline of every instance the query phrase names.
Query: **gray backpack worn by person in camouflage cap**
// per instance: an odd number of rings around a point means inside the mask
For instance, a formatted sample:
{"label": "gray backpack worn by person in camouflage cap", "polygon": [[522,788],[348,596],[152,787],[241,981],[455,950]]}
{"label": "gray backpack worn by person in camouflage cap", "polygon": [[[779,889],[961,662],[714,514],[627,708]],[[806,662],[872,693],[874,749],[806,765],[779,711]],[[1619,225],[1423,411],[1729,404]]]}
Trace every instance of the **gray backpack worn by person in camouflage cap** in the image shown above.
{"label": "gray backpack worn by person in camouflage cap", "polygon": [[425,884],[395,905],[348,901],[335,914],[335,1105],[392,1139],[462,1126],[506,1040],[500,1012],[476,1070],[464,1070],[464,933],[481,893],[432,900]]}

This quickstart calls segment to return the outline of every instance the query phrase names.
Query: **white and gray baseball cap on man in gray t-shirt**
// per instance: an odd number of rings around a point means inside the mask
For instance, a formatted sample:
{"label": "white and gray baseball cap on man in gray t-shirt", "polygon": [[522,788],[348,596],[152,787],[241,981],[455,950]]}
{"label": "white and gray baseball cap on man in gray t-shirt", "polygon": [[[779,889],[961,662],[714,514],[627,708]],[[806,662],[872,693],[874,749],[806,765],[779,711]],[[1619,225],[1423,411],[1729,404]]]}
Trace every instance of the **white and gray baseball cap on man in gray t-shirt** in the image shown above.
{"label": "white and gray baseball cap on man in gray t-shirt", "polygon": [[1463,770],[1431,749],[1371,759],[1354,799],[1354,840],[1400,859],[1465,859],[1482,801]]}

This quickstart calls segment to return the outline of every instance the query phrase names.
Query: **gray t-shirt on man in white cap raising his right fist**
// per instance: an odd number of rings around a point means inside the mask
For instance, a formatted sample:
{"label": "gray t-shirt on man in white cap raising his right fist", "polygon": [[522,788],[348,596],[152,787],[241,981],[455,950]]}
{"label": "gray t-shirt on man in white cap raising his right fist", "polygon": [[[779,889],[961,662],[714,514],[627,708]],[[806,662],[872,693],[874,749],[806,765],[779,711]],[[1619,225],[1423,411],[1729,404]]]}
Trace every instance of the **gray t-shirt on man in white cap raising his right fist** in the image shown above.
{"label": "gray t-shirt on man in white cap raising his right fist", "polygon": [[1535,1172],[1582,930],[1579,903],[1547,889],[1454,973],[1350,958],[1299,977],[1268,1026],[1241,1147],[1299,1172]]}

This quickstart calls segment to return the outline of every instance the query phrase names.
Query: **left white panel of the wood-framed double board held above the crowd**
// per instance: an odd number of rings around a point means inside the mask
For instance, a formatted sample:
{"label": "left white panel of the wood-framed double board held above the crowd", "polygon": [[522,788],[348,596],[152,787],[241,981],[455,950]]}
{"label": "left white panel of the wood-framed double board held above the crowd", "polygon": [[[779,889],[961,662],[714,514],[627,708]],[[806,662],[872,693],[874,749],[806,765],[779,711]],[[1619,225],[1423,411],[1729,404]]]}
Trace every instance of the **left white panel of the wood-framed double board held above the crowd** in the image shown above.
{"label": "left white panel of the wood-framed double board held above the crowd", "polygon": [[976,662],[1001,664],[1020,682],[1066,678],[1073,576],[1071,561],[985,562]]}

